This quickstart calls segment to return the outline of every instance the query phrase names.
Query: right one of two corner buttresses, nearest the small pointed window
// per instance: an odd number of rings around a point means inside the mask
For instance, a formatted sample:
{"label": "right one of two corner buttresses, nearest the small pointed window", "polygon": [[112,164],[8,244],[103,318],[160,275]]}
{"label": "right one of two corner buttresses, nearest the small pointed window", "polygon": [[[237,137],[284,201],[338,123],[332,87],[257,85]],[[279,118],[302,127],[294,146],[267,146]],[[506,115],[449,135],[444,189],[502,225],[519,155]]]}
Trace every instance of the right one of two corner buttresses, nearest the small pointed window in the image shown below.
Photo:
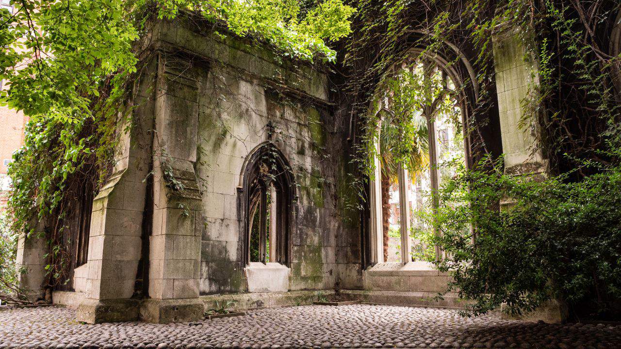
{"label": "right one of two corner buttresses, nearest the small pointed window", "polygon": [[[201,195],[197,152],[201,76],[186,58],[161,54],[155,91],[153,230],[149,240],[148,296],[140,316],[148,322],[202,319]],[[204,73],[203,73],[204,74]]]}

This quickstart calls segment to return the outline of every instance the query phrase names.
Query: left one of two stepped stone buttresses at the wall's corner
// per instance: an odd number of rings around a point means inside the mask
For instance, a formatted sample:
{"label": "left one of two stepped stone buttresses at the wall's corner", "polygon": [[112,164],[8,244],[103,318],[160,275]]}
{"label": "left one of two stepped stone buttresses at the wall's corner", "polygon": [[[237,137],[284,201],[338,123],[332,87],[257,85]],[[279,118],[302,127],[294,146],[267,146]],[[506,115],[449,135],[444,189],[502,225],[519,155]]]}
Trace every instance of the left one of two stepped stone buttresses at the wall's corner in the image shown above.
{"label": "left one of two stepped stone buttresses at the wall's corner", "polygon": [[[134,120],[119,122],[121,135],[112,175],[93,199],[88,278],[79,321],[95,324],[138,320],[132,299],[142,258],[142,229],[151,162],[153,102],[148,80],[140,80]],[[151,93],[152,94],[152,93]]]}

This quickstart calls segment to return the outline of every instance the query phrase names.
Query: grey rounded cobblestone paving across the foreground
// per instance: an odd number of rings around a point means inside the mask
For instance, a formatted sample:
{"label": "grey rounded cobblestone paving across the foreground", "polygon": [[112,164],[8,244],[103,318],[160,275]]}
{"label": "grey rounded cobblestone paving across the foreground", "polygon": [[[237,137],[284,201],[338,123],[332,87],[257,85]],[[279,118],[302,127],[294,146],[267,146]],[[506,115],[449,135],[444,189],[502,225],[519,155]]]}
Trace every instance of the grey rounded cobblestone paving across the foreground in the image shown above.
{"label": "grey rounded cobblestone paving across the foreground", "polygon": [[84,325],[61,307],[0,310],[0,348],[621,348],[621,326],[464,319],[455,310],[301,306],[196,323]]}

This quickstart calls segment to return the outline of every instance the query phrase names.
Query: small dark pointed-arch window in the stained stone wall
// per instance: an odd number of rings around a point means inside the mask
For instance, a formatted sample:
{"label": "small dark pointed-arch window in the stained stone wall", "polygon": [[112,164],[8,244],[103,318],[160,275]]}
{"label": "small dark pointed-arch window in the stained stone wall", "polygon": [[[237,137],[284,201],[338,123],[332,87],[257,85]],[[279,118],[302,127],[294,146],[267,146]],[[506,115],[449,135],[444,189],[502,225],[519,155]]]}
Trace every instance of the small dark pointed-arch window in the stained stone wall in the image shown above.
{"label": "small dark pointed-arch window in the stained stone wall", "polygon": [[295,185],[283,153],[271,142],[255,148],[243,176],[244,262],[289,264]]}

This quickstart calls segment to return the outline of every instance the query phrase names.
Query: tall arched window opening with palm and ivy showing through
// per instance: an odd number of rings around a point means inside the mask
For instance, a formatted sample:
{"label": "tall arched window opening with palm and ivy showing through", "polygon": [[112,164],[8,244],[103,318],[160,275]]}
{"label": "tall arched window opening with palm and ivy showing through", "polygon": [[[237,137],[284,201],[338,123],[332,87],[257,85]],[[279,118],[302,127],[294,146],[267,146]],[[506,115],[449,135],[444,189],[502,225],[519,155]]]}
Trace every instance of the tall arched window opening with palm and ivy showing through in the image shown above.
{"label": "tall arched window opening with palm and ivy showing through", "polygon": [[430,217],[438,210],[438,189],[466,165],[468,156],[463,93],[455,76],[436,60],[418,57],[391,71],[378,93],[371,219],[381,224],[369,225],[379,230],[371,232],[376,261],[442,258],[440,248],[430,243],[438,233]]}

